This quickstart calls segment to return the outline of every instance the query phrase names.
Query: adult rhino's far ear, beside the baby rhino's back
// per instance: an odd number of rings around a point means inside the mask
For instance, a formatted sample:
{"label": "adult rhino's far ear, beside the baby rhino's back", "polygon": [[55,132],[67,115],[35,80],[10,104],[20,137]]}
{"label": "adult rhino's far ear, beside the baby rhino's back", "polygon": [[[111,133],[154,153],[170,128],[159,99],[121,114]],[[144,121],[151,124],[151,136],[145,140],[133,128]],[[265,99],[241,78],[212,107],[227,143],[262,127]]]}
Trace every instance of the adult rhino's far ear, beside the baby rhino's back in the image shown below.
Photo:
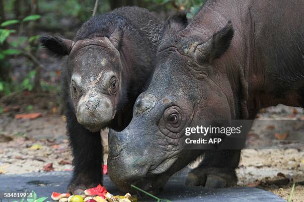
{"label": "adult rhino's far ear, beside the baby rhino's back", "polygon": [[163,24],[161,36],[165,38],[166,36],[172,36],[177,32],[183,30],[188,25],[187,13],[180,12],[171,17],[169,17]]}

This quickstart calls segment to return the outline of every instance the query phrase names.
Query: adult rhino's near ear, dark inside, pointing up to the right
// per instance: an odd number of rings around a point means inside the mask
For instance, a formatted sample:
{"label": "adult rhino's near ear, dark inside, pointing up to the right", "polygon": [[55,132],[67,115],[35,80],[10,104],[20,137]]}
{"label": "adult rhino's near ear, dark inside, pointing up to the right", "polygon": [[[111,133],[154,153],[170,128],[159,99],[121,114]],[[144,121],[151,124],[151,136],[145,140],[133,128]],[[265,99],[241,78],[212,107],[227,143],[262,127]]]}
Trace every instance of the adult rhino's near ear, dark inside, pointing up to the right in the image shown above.
{"label": "adult rhino's near ear, dark inside, pointing up to the right", "polygon": [[233,26],[231,21],[228,21],[226,26],[204,44],[198,45],[194,51],[195,59],[200,63],[211,63],[214,59],[220,58],[229,48],[233,38]]}

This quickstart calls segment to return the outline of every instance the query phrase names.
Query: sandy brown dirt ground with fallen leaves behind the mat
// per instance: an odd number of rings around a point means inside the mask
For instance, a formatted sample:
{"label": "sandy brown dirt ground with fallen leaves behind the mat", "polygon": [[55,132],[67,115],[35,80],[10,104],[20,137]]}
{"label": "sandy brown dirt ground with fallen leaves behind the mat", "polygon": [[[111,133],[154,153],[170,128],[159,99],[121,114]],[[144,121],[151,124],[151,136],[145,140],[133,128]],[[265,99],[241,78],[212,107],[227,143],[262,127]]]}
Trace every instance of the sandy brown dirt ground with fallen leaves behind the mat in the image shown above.
{"label": "sandy brown dirt ground with fallen leaves behind the mat", "polygon": [[[5,112],[0,115],[0,174],[72,170],[65,117],[60,115],[56,96],[37,97],[29,93],[16,96],[14,101],[2,104]],[[26,103],[31,103],[30,110]],[[15,118],[16,114],[22,113],[40,113],[40,117],[33,120]],[[262,110],[258,119],[303,120],[304,111],[279,105]],[[302,142],[289,142],[281,149],[242,150],[237,169],[238,185],[269,190],[287,200],[293,182],[296,182],[293,202],[304,202],[304,125],[300,128]],[[253,126],[251,137],[256,138],[259,133],[260,127]],[[106,163],[107,130],[101,134]],[[276,135],[279,139],[286,138],[285,134]],[[292,147],[296,149],[288,149],[290,145],[296,145]]]}

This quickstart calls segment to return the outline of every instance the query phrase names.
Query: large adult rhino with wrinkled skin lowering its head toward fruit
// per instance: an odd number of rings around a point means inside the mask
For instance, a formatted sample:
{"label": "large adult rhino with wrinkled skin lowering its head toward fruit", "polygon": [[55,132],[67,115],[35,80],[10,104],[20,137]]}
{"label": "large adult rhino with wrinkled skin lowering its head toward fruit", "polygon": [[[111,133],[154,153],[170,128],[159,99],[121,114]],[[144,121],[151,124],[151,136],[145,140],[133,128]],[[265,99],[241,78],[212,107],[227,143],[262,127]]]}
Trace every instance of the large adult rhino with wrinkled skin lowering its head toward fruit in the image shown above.
{"label": "large adult rhino with wrinkled skin lowering its head toward fruit", "polygon": [[204,154],[187,184],[214,175],[235,184],[240,151],[182,150],[183,130],[199,119],[254,119],[279,103],[304,107],[303,10],[303,0],[211,0],[189,25],[184,15],[168,19],[148,90],[129,126],[109,134],[113,182],[157,191]]}

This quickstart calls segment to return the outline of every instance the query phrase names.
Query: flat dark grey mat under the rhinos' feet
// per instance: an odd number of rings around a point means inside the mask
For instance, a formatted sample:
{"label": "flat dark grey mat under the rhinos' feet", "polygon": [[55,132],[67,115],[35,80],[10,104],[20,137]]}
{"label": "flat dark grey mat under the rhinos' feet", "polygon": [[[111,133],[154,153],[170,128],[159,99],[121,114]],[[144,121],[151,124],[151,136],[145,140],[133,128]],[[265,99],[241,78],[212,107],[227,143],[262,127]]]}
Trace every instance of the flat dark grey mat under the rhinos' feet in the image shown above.
{"label": "flat dark grey mat under the rhinos' feet", "polygon": [[[35,191],[37,197],[49,197],[52,192],[65,192],[71,172],[27,173],[21,175],[0,175],[0,199],[4,192]],[[284,202],[283,199],[264,190],[239,187],[227,189],[205,189],[184,186],[184,176],[173,176],[164,191],[157,195],[172,202]],[[123,194],[118,191],[108,176],[104,176],[104,186],[111,194]],[[139,202],[156,201],[150,197],[138,199]],[[10,200],[12,201],[12,200]]]}

